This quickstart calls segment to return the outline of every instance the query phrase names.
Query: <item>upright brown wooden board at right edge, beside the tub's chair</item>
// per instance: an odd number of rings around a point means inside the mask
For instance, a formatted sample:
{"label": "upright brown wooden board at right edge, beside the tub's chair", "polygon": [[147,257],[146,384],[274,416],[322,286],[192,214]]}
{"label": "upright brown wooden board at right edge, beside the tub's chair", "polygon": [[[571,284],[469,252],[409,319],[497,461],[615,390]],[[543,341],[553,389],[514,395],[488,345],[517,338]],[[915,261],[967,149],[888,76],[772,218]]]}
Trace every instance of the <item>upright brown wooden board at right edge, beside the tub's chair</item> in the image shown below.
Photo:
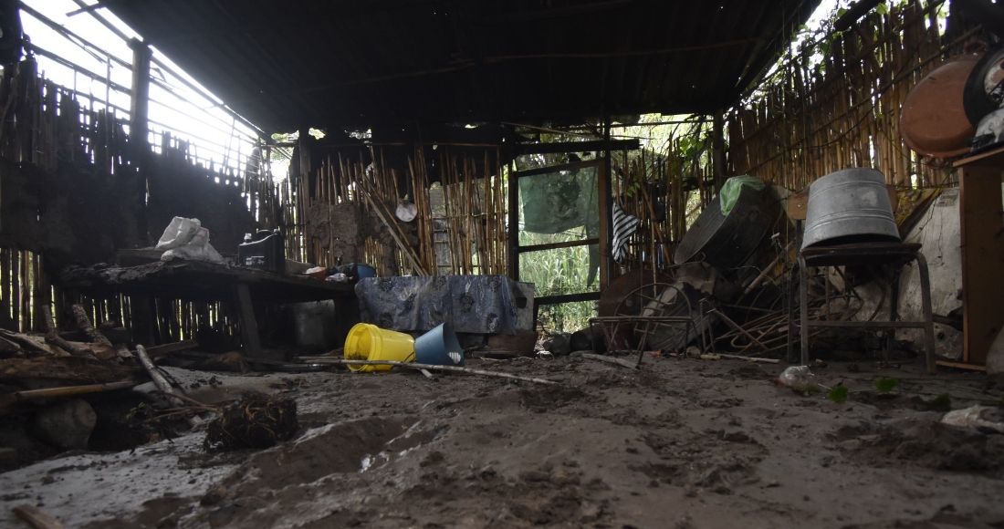
{"label": "upright brown wooden board at right edge, beside the tub's chair", "polygon": [[1001,169],[966,166],[959,176],[963,361],[984,364],[1004,325],[1004,207]]}

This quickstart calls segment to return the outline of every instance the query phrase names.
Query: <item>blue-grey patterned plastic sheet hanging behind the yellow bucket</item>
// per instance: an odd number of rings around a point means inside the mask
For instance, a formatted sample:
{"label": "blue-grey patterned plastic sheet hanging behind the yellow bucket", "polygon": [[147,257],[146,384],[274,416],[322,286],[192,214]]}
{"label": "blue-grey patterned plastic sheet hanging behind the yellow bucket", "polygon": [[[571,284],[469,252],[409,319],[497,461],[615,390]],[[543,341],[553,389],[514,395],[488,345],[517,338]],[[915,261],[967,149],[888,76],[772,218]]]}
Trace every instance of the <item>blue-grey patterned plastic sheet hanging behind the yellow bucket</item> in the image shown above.
{"label": "blue-grey patterned plastic sheet hanging behind the yellow bucket", "polygon": [[359,319],[381,328],[516,333],[515,284],[504,275],[370,277],[355,285]]}

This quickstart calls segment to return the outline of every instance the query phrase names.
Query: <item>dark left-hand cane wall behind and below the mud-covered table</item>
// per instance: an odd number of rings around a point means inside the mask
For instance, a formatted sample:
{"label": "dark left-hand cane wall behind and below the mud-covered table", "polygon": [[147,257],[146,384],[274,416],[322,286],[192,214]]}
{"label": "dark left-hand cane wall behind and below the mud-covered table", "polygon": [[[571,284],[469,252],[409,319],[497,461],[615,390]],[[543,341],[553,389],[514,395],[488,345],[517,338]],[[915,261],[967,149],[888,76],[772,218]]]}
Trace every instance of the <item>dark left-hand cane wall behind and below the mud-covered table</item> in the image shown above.
{"label": "dark left-hand cane wall behind and below the mud-covered table", "polygon": [[[249,178],[220,172],[201,163],[188,143],[164,136],[147,159],[148,181],[131,160],[128,122],[81,104],[72,90],[39,77],[30,60],[5,69],[0,112],[0,325],[44,330],[37,310],[42,304],[53,304],[61,324],[62,309],[81,303],[95,324],[110,319],[132,328],[135,321],[152,321],[146,314],[153,312],[155,327],[148,330],[156,341],[192,337],[202,329],[216,334],[221,346],[238,342],[237,318],[226,304],[155,299],[140,307],[128,296],[76,296],[52,286],[47,265],[69,257],[107,262],[117,248],[151,246],[175,206],[200,211],[189,216],[203,219],[218,215],[218,224],[228,226],[214,232],[214,241],[223,242],[227,231],[237,241],[236,232],[243,234],[254,222],[248,204],[266,220],[273,211],[275,194],[264,184],[271,180],[267,166]],[[213,202],[213,211],[200,201]],[[235,206],[245,211],[247,228],[238,226],[242,217]]]}

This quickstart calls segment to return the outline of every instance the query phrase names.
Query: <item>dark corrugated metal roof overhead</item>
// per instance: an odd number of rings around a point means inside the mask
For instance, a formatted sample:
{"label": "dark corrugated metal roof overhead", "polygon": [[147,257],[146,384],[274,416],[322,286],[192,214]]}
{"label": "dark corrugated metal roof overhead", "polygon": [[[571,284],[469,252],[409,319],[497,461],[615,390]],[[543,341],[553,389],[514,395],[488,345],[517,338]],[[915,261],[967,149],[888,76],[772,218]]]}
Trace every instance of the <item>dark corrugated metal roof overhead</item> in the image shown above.
{"label": "dark corrugated metal roof overhead", "polygon": [[733,102],[819,0],[104,0],[267,130]]}

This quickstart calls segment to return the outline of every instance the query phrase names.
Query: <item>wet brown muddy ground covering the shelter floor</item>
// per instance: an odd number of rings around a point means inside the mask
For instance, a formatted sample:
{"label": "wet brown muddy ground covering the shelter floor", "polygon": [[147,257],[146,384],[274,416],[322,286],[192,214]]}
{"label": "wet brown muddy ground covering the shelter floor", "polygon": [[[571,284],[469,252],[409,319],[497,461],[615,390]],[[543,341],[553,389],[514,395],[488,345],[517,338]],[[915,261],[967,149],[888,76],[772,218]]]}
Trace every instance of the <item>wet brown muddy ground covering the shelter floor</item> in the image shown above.
{"label": "wet brown muddy ground covering the shelter floor", "polygon": [[[999,403],[983,374],[816,367],[849,387],[836,404],[778,387],[783,363],[469,364],[560,383],[221,374],[203,386],[214,400],[295,398],[297,437],[207,454],[197,431],[36,463],[0,475],[0,526],[23,526],[10,509],[29,503],[85,528],[1004,527],[1004,436],[941,425],[927,404]],[[901,383],[880,393],[883,376]]]}

